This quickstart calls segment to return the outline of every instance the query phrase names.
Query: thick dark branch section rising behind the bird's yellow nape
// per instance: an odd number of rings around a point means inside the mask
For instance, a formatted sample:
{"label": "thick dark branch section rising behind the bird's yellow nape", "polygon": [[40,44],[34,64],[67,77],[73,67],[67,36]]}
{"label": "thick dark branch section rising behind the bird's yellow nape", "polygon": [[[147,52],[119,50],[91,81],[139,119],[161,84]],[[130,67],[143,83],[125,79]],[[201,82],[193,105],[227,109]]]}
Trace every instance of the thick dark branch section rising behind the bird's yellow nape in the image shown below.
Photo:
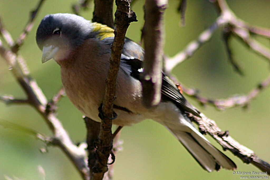
{"label": "thick dark branch section rising behind the bird's yellow nape", "polygon": [[114,28],[113,25],[113,0],[94,0],[95,10],[93,12],[93,22],[106,24]]}

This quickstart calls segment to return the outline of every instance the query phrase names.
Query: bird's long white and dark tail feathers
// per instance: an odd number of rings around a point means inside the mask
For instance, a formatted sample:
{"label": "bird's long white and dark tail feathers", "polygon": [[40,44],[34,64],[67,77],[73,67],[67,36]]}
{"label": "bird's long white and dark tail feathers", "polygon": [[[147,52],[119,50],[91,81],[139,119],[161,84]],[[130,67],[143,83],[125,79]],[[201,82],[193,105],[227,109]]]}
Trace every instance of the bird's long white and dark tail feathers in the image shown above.
{"label": "bird's long white and dark tail feathers", "polygon": [[[187,118],[187,117],[186,117]],[[235,163],[225,154],[215,148],[210,142],[190,124],[187,131],[180,131],[183,125],[166,123],[166,127],[184,145],[196,161],[208,172],[225,169],[236,169]],[[182,128],[180,127],[182,126]]]}

